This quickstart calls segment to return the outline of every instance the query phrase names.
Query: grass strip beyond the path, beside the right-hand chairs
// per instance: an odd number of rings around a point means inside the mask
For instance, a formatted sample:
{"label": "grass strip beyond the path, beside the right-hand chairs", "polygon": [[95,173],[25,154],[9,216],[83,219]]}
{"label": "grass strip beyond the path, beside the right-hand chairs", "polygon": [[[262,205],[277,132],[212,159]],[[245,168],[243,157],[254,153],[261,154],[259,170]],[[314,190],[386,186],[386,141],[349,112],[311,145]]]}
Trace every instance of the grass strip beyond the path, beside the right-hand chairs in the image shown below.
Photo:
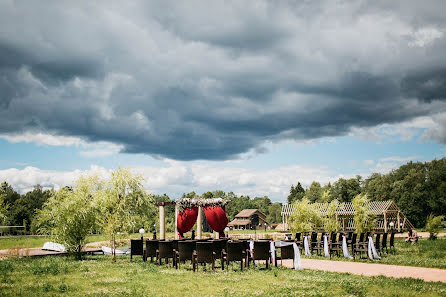
{"label": "grass strip beyond the path, beside the right-hand chairs", "polygon": [[[421,266],[446,269],[446,238],[439,237],[437,240],[420,239],[417,244],[411,244],[404,239],[395,240],[396,252],[384,254],[381,260],[374,263]],[[364,254],[363,254],[364,255]],[[306,258],[305,256],[302,256]],[[311,259],[326,259],[321,256],[311,256]],[[333,257],[332,260],[351,261],[346,258]],[[357,262],[370,262],[368,259],[358,259]]]}

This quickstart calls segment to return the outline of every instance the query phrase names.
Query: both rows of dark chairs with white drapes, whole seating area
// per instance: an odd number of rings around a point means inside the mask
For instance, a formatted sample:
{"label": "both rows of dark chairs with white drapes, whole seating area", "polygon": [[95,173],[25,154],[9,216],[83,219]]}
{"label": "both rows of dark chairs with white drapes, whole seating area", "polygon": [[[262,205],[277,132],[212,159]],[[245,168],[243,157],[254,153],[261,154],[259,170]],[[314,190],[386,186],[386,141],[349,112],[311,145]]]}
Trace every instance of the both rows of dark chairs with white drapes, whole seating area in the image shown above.
{"label": "both rows of dark chairs with white drapes, whole seating area", "polygon": [[[200,267],[210,266],[215,270],[217,266],[222,270],[229,269],[232,264],[240,265],[243,271],[254,268],[258,263],[277,266],[278,261],[293,259],[304,254],[304,242],[308,241],[311,255],[330,257],[346,257],[350,259],[380,259],[385,254],[394,252],[395,233],[330,233],[311,232],[296,233],[291,240],[231,240],[222,239],[195,239],[182,238],[177,240],[131,240],[131,256],[140,255],[144,261],[155,262],[157,265],[169,265],[180,269],[189,263],[193,271]],[[345,237],[345,238],[344,238]],[[371,238],[371,240],[370,240]],[[371,255],[371,244],[375,252]],[[299,251],[296,254],[295,247]],[[376,253],[376,254],[375,254]],[[259,262],[261,261],[261,262]]]}

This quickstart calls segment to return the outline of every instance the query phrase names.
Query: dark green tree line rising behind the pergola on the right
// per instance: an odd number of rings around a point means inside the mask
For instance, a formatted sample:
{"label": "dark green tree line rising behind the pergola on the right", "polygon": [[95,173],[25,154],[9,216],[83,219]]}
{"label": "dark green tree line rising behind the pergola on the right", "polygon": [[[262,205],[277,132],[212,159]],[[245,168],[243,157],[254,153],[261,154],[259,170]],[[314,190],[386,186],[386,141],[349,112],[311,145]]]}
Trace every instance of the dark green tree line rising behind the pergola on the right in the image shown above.
{"label": "dark green tree line rising behind the pergola on the right", "polygon": [[351,202],[358,194],[371,201],[393,200],[415,227],[424,227],[432,214],[446,214],[446,158],[430,162],[408,162],[387,174],[373,173],[366,179],[340,178],[321,186],[314,181],[304,189],[291,186],[288,203],[307,198],[310,202]]}

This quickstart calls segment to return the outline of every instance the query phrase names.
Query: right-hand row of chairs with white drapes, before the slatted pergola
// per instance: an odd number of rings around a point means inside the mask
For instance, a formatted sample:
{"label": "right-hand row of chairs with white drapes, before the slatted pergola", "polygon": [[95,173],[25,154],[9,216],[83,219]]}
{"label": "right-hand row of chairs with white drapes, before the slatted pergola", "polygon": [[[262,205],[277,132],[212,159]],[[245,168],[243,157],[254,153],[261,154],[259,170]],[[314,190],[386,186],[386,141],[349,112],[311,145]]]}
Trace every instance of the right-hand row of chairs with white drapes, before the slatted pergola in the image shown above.
{"label": "right-hand row of chairs with white drapes, before the slatted pergola", "polygon": [[[311,232],[310,234],[304,234],[308,235],[309,237],[309,248],[310,252],[313,253],[313,251],[316,251],[316,253],[319,255],[324,250],[324,236],[327,233],[321,232],[320,237],[318,238],[317,232]],[[328,251],[330,253],[330,258],[333,254],[336,253],[336,255],[339,257],[342,253],[342,236],[347,236],[347,246],[348,249],[351,250],[353,257],[355,257],[356,254],[359,254],[359,257],[362,258],[362,254],[365,253],[367,255],[368,250],[368,238],[370,235],[374,237],[374,245],[379,254],[383,254],[384,251],[388,254],[389,249],[390,251],[395,250],[395,233],[390,233],[390,240],[389,240],[389,247],[387,246],[387,237],[388,233],[373,233],[370,232],[367,233],[361,233],[358,238],[357,233],[348,232],[348,233],[330,233],[328,237]],[[295,242],[299,246],[299,248],[303,249],[303,236],[302,233],[296,233],[296,239]]]}

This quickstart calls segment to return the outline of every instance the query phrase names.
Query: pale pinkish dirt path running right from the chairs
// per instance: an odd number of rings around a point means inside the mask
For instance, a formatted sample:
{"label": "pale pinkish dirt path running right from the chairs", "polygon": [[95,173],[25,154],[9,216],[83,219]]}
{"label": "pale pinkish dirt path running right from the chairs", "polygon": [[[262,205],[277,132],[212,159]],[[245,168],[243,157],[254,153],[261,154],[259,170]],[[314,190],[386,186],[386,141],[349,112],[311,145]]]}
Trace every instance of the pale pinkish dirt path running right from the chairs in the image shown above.
{"label": "pale pinkish dirt path running right from the chairs", "polygon": [[[280,263],[280,260],[278,261]],[[292,268],[293,260],[283,260],[283,266]],[[413,266],[387,265],[375,263],[341,262],[329,260],[302,259],[304,269],[331,272],[347,272],[365,276],[383,275],[387,277],[410,277],[428,282],[446,283],[446,269]]]}

